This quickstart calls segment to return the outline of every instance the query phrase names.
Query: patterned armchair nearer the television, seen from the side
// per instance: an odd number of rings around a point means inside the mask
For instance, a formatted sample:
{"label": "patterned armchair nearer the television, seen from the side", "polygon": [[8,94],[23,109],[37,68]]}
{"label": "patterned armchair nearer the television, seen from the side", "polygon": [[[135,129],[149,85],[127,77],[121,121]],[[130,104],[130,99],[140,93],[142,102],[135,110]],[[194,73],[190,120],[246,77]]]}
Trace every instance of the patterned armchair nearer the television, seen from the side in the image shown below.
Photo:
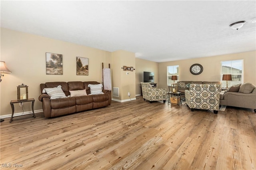
{"label": "patterned armchair nearer the television, seen from the side", "polygon": [[166,101],[166,89],[157,89],[152,87],[150,83],[140,83],[142,88],[142,96],[144,100],[150,101]]}

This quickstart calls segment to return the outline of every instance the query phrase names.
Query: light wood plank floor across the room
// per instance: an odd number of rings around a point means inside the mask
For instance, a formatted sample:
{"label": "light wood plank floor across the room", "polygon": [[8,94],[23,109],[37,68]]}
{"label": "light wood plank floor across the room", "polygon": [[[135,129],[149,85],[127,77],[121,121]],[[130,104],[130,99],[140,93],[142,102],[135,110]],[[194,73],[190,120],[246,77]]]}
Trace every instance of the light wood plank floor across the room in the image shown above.
{"label": "light wood plank floor across the room", "polygon": [[[0,123],[1,169],[256,169],[256,113],[135,101]],[[3,168],[10,166],[10,168]]]}

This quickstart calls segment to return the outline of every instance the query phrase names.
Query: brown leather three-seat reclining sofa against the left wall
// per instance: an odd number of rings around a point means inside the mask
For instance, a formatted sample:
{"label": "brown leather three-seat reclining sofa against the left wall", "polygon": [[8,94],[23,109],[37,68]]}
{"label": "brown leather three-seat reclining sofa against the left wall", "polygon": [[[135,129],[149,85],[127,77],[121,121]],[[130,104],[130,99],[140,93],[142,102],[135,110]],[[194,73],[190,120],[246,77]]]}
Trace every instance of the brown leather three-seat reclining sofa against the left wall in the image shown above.
{"label": "brown leather three-seat reclining sofa against the left wall", "polygon": [[[62,115],[68,115],[76,112],[86,111],[90,109],[96,109],[105,107],[111,103],[111,92],[109,90],[102,90],[104,94],[89,95],[89,84],[100,84],[97,81],[70,81],[70,82],[47,82],[40,84],[41,95],[38,97],[42,102],[44,116],[58,117]],[[79,97],[66,97],[62,99],[50,99],[50,96],[43,93],[44,88],[53,88],[61,85],[61,88],[66,96],[70,95],[69,91],[84,90],[86,89],[87,95]]]}

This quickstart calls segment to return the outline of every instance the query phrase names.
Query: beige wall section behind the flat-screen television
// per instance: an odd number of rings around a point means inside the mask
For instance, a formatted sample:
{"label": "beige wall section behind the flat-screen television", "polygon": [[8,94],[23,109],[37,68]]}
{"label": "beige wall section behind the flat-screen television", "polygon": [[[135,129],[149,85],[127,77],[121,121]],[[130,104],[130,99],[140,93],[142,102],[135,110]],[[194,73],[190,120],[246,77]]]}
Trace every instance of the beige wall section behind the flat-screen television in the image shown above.
{"label": "beige wall section behind the flat-screen television", "polygon": [[158,63],[136,58],[136,95],[140,95],[140,82],[143,82],[144,71],[154,72],[154,83],[158,83]]}

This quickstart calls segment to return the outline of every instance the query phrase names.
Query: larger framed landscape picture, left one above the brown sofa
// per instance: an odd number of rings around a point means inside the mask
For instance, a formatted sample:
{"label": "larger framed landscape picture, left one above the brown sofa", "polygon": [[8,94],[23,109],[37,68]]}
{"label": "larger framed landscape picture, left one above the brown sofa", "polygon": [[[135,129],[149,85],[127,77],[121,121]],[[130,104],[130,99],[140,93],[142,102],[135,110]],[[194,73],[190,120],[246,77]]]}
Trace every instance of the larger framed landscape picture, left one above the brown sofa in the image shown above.
{"label": "larger framed landscape picture, left one above the brown sofa", "polygon": [[62,54],[46,53],[46,75],[62,75]]}

